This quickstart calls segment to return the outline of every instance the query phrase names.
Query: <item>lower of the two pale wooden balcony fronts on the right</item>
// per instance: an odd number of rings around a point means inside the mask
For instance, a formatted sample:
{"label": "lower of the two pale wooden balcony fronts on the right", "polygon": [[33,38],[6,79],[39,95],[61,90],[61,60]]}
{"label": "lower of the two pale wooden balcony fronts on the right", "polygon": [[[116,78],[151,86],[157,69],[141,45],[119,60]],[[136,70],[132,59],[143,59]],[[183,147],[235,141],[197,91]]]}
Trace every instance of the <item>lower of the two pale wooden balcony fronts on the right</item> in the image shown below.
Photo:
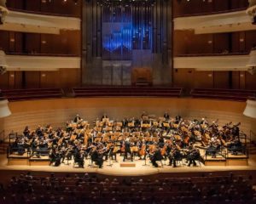
{"label": "lower of the two pale wooden balcony fronts on the right", "polygon": [[175,69],[197,71],[247,71],[248,53],[236,54],[188,54],[174,57]]}

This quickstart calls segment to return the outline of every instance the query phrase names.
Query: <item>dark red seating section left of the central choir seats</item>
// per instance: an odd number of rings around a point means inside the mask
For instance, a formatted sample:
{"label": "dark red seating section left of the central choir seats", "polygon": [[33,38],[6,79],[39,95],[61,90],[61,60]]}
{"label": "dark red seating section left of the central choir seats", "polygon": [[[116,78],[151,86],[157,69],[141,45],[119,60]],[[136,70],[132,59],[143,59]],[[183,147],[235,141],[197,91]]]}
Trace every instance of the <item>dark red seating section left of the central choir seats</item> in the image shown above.
{"label": "dark red seating section left of the central choir seats", "polygon": [[62,97],[61,88],[31,88],[1,90],[0,94],[9,101],[27,99],[55,99]]}

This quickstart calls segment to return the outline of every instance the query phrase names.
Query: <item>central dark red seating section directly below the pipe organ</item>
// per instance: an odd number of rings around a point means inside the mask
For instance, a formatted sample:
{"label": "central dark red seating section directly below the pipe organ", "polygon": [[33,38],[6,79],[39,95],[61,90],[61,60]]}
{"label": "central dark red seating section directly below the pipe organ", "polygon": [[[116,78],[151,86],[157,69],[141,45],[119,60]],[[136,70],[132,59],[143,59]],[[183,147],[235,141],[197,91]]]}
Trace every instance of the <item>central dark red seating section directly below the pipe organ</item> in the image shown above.
{"label": "central dark red seating section directly below the pipe organ", "polygon": [[75,97],[108,97],[108,96],[148,96],[148,97],[179,97],[183,88],[155,87],[89,87],[73,88]]}

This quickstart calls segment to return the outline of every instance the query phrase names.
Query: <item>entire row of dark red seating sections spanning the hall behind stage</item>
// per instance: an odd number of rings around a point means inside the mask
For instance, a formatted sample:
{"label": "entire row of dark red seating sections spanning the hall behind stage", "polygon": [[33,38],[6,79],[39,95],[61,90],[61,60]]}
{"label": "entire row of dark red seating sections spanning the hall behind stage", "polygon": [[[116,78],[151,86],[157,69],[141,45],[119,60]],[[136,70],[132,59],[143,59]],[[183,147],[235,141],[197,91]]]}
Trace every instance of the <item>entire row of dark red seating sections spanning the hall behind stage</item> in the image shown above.
{"label": "entire row of dark red seating sections spanning the hall behind stage", "polygon": [[[72,93],[71,93],[72,91]],[[60,99],[63,97],[90,98],[90,97],[186,97],[199,99],[223,99],[234,101],[246,101],[256,96],[256,90],[223,89],[223,88],[195,88],[184,90],[184,88],[168,87],[123,87],[123,86],[97,86],[72,88],[72,90],[61,88],[29,88],[29,89],[7,89],[0,90],[0,94],[9,101],[32,100],[32,99]]]}

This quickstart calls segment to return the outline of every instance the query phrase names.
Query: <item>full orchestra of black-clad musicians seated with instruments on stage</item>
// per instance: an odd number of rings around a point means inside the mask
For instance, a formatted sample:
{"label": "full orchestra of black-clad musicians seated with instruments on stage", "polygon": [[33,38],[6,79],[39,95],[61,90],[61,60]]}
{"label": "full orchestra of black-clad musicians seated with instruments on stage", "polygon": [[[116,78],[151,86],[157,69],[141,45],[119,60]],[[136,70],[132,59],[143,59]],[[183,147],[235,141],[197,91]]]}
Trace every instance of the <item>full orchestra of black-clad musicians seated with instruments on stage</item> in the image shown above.
{"label": "full orchestra of black-clad musicians seated with instruments on stage", "polygon": [[104,114],[90,125],[77,115],[65,127],[25,127],[10,144],[9,154],[22,156],[27,150],[38,158],[48,155],[49,165],[55,167],[71,160],[84,167],[88,160],[90,165],[102,168],[104,161],[117,161],[117,154],[123,156],[123,161],[134,162],[137,158],[146,163],[148,158],[154,167],[159,167],[162,161],[177,167],[177,161],[183,159],[188,166],[196,166],[195,161],[201,158],[200,149],[212,158],[223,148],[234,155],[242,154],[239,125],[230,122],[220,126],[218,120],[208,122],[205,118],[172,118],[167,112],[159,118],[143,112],[140,118],[125,117],[122,121],[110,120]]}

